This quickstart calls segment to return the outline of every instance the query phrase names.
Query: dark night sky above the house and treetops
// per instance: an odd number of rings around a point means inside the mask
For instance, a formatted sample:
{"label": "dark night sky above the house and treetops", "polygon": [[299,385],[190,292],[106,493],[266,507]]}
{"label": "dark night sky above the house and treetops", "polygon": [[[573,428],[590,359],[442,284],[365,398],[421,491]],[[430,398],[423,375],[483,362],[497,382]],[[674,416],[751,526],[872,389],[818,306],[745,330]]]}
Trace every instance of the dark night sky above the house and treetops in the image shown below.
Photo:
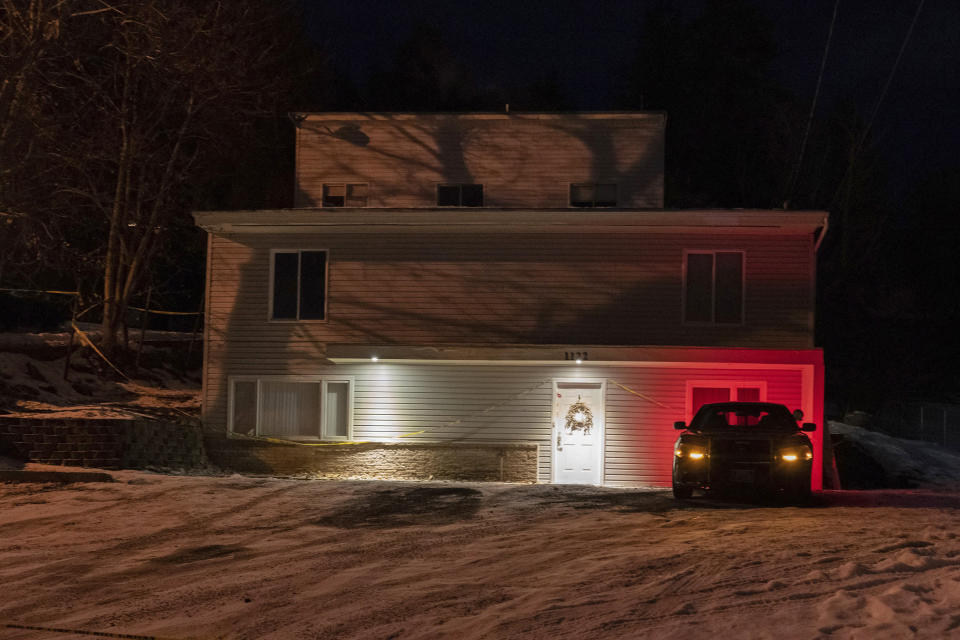
{"label": "dark night sky above the house and treetops", "polygon": [[[651,2],[349,0],[307,4],[310,31],[337,66],[362,82],[388,66],[417,25],[440,29],[482,83],[524,85],[554,76],[581,109],[615,104]],[[702,2],[679,2],[696,14]],[[834,0],[757,0],[774,25],[776,72],[813,96]],[[820,110],[854,99],[869,116],[917,8],[915,0],[841,0]],[[926,0],[875,122],[894,191],[931,169],[957,165],[960,150],[960,1]]]}

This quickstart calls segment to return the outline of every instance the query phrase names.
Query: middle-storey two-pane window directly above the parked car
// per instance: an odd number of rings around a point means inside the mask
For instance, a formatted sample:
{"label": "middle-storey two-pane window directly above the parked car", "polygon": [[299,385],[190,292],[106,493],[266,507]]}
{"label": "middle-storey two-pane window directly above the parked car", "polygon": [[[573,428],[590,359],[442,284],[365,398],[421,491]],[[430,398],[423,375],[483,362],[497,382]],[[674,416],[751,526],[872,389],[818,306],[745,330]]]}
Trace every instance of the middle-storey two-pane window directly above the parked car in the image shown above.
{"label": "middle-storey two-pane window directly above the parked car", "polygon": [[743,324],[743,251],[685,251],[683,321]]}

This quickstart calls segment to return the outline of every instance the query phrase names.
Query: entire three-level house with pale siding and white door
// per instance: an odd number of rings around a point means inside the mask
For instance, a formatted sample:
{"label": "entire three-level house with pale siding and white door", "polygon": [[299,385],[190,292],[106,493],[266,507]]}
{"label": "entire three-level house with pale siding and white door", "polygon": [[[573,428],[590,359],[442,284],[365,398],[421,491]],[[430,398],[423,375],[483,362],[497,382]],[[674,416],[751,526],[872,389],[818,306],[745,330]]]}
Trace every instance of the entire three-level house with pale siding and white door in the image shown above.
{"label": "entire three-level house with pale siding and white door", "polygon": [[826,213],[664,210],[663,113],[294,119],[296,208],[196,214],[208,429],[373,459],[516,445],[540,482],[669,485],[674,421],[767,400],[822,459]]}

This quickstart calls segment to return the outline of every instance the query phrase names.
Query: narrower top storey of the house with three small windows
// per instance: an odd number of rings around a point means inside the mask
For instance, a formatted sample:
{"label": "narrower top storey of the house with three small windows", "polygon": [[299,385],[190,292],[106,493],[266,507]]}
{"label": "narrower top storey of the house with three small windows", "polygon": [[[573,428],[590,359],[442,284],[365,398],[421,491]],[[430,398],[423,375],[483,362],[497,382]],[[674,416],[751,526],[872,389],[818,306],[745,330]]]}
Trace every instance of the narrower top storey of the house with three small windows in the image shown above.
{"label": "narrower top storey of the house with three small windows", "polygon": [[663,207],[660,112],[293,117],[297,207]]}

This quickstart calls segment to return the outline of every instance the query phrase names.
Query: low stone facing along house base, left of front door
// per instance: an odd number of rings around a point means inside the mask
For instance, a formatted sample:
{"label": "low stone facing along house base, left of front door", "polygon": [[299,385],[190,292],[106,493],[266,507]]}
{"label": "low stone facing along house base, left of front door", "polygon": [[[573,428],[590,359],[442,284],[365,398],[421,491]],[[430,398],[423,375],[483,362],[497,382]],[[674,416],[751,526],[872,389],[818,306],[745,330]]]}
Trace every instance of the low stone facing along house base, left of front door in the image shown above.
{"label": "low stone facing along house base, left of front door", "polygon": [[537,481],[537,444],[358,443],[310,446],[206,434],[210,461],[247,473],[314,478]]}

